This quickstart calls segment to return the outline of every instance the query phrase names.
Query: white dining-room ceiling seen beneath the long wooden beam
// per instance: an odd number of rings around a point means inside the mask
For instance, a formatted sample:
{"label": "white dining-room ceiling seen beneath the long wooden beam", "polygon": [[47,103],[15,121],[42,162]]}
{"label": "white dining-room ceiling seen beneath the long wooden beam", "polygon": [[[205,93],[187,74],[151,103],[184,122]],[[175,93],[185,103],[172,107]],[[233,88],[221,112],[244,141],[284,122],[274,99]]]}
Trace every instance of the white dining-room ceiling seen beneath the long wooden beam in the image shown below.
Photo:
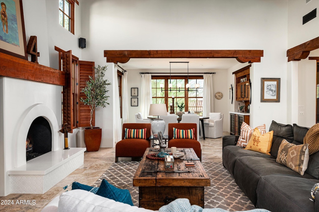
{"label": "white dining-room ceiling seen beneath the long wooden beam", "polygon": [[[129,62],[118,65],[126,70],[169,69],[169,62],[189,62],[192,72],[197,69],[228,69],[239,63],[235,58],[131,58]],[[187,69],[187,63],[171,63],[171,69]]]}

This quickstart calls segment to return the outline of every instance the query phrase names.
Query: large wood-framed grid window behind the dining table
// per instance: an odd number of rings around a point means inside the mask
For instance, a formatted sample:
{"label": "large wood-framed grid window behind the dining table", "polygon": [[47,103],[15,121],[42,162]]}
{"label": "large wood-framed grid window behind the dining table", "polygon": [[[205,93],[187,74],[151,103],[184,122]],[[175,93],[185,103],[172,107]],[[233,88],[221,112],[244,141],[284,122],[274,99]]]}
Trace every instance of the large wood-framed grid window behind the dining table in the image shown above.
{"label": "large wood-framed grid window behind the dining table", "polygon": [[[179,105],[184,103],[184,111],[203,115],[203,76],[189,76],[189,90],[185,91],[187,84],[187,76],[152,76],[152,104],[166,104],[167,110],[172,104],[172,96],[174,96],[174,111],[179,111],[176,102]],[[160,84],[164,84],[163,90],[168,90],[168,84],[173,84],[172,89],[177,91],[161,91]],[[200,84],[198,91],[195,90],[195,84]],[[178,85],[181,85],[183,91],[178,91]]]}

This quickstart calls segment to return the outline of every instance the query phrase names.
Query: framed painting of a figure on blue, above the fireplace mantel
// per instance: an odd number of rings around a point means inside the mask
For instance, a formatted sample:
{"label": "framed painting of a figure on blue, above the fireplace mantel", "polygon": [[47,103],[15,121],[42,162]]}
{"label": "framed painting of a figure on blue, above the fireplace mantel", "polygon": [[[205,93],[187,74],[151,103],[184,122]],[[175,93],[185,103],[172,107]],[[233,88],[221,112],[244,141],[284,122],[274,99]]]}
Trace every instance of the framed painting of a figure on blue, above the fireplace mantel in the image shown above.
{"label": "framed painting of a figure on blue, above the fireplace mantel", "polygon": [[4,25],[3,30],[0,21],[0,52],[28,60],[22,1],[1,0],[1,3],[4,3],[6,8],[7,25]]}

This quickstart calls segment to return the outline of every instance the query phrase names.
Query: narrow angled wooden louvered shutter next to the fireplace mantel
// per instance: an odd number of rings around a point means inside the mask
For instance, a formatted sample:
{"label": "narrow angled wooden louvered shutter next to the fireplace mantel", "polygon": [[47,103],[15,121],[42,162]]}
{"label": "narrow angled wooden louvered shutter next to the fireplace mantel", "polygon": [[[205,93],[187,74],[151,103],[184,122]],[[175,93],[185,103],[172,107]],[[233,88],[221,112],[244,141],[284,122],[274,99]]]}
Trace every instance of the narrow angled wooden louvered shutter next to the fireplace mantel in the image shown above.
{"label": "narrow angled wooden louvered shutter next to the fireplace mantel", "polygon": [[[73,95],[71,88],[73,87],[72,76],[72,52],[67,51],[62,53],[62,70],[67,75],[67,86],[63,86],[63,123],[68,123],[68,130],[72,133],[73,129]],[[62,123],[62,124],[63,124]]]}

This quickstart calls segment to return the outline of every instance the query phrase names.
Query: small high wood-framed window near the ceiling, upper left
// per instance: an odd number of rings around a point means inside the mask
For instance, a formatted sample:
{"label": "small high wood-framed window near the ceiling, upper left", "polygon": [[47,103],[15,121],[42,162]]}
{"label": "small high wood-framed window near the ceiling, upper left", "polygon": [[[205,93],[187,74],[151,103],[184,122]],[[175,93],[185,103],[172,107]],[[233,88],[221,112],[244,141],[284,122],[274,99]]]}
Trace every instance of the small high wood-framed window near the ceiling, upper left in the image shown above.
{"label": "small high wood-framed window near the ceiling, upper left", "polygon": [[59,24],[74,34],[74,7],[78,0],[59,0]]}

